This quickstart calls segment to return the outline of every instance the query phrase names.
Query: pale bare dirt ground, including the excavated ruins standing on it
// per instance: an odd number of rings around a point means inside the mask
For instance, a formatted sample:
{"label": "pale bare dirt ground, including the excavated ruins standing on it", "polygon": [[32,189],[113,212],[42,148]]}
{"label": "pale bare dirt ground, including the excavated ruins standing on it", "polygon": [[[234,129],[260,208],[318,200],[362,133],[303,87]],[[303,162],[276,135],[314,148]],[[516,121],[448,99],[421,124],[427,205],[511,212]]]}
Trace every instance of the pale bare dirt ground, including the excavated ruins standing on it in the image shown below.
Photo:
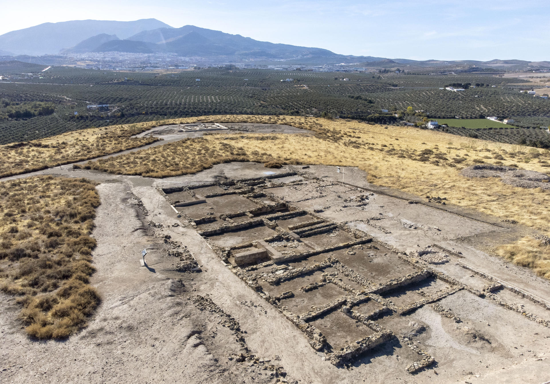
{"label": "pale bare dirt ground, including the excavated ruins standing on it", "polygon": [[547,381],[550,282],[492,255],[538,232],[341,168],[42,171],[100,183],[90,282],[102,303],[83,331],[38,342],[3,295],[0,379]]}

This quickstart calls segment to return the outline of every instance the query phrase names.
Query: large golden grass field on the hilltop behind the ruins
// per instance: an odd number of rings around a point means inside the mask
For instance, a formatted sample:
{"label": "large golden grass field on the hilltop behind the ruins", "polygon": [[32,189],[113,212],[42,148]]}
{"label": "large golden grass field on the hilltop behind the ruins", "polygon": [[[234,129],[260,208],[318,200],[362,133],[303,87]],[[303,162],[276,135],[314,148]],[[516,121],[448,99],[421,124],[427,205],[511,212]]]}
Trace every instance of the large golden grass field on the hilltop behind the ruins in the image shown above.
{"label": "large golden grass field on the hilltop behind the ruins", "polygon": [[[228,161],[355,166],[378,185],[422,196],[446,197],[470,207],[546,231],[550,193],[503,184],[496,178],[466,178],[460,170],[485,162],[548,172],[548,151],[463,138],[408,127],[387,128],[354,121],[309,117],[215,116],[184,122],[257,122],[289,124],[309,135],[211,134],[136,151],[86,167],[118,174],[167,177],[195,173]],[[525,162],[527,161],[527,162]]]}

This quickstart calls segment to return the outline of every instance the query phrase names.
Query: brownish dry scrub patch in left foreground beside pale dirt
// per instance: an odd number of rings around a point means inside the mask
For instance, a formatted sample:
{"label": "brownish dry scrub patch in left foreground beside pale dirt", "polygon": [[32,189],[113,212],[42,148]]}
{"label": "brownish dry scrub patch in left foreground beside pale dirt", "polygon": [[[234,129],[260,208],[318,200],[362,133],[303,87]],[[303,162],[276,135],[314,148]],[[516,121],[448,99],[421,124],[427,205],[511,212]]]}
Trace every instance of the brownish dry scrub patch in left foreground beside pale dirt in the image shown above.
{"label": "brownish dry scrub patch in left foreground beside pale dirt", "polygon": [[30,336],[64,338],[100,302],[88,279],[89,236],[100,205],[86,179],[31,177],[0,183],[0,290],[19,295]]}

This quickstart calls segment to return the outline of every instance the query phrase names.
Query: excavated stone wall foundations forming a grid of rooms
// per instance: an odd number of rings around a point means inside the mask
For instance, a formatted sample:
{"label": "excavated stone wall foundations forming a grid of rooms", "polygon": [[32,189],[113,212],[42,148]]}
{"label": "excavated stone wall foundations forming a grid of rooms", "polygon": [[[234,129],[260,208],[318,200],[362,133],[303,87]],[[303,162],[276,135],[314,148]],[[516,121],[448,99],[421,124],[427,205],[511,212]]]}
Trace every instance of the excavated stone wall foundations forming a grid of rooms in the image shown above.
{"label": "excavated stone wall foundations forming a grid of rooms", "polygon": [[[304,209],[280,195],[282,188],[299,188],[306,182],[319,180],[287,172],[158,191],[183,225],[195,228],[227,268],[298,327],[322,359],[336,366],[349,365],[387,343],[406,345],[416,356],[404,363],[407,372],[430,366],[433,356],[394,324],[428,305],[459,323],[460,318],[438,301],[461,290],[519,310],[494,295],[503,286],[488,277],[483,277],[487,284],[481,290],[436,269],[459,265],[462,256],[457,251],[430,245],[405,253],[345,222],[323,218],[322,209]],[[361,209],[372,195],[359,191],[344,204]],[[377,224],[382,218],[360,222],[387,233]],[[525,316],[549,325],[536,315]]]}

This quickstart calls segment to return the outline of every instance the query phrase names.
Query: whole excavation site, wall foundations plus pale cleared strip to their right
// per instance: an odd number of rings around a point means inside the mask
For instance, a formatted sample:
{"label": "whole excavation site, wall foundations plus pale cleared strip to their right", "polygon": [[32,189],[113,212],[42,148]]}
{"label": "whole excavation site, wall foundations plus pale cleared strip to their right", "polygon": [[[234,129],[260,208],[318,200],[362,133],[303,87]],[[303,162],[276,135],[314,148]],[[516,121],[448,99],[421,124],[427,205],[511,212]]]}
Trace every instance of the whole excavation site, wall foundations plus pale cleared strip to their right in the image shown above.
{"label": "whole excavation site, wall foundations plus pale cleared strip to their right", "polygon": [[[476,250],[460,241],[507,228],[295,168],[156,189],[225,268],[298,328],[312,356],[339,369],[395,356],[411,375],[403,380],[415,382],[453,363],[432,328],[452,330],[480,356],[528,339],[524,326],[550,338],[548,301],[472,266]],[[426,213],[433,219],[416,221]],[[522,331],[494,339],[510,318]]]}

